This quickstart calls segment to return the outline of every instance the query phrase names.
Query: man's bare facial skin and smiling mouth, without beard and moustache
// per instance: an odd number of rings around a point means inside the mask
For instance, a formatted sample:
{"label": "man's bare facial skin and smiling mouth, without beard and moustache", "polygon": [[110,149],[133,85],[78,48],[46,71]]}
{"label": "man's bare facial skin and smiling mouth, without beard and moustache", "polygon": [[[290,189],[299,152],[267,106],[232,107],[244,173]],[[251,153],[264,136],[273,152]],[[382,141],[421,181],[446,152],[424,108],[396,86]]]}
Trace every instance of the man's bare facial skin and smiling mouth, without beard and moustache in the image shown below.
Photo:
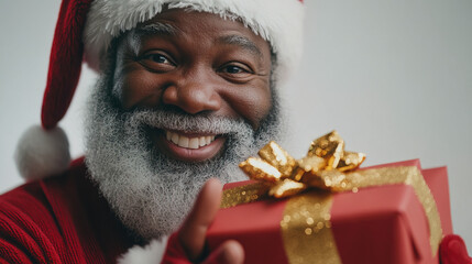
{"label": "man's bare facial skin and smiling mouth, without beard and moustache", "polygon": [[[121,38],[113,94],[125,111],[166,110],[242,119],[256,130],[271,110],[268,44],[237,21],[166,10]],[[224,134],[146,128],[153,144],[184,162],[210,160]]]}

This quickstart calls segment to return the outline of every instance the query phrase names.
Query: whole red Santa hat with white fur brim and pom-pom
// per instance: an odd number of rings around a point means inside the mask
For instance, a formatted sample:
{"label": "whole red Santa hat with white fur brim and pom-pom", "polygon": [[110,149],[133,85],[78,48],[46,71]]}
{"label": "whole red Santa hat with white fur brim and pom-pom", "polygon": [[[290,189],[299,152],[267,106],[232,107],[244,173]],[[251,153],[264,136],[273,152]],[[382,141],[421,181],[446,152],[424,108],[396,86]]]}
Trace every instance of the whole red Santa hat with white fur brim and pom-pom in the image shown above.
{"label": "whole red Santa hat with white fur brim and pom-pom", "polygon": [[238,18],[271,44],[277,58],[277,84],[289,76],[300,58],[303,0],[63,0],[43,98],[42,130],[29,130],[15,154],[23,177],[35,179],[67,168],[67,139],[56,125],[70,105],[83,61],[100,72],[99,62],[111,41],[164,7]]}

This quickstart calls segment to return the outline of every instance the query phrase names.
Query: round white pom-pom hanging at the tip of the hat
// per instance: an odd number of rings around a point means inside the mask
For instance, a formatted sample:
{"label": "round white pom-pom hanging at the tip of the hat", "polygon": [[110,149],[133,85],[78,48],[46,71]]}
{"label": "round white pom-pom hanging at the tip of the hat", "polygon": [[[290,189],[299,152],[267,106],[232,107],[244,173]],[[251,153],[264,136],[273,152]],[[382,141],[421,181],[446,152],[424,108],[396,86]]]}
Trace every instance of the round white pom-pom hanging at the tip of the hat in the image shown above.
{"label": "round white pom-pom hanging at the tip of the hat", "polygon": [[20,138],[14,154],[17,167],[26,180],[58,175],[70,163],[69,142],[61,128],[33,125]]}

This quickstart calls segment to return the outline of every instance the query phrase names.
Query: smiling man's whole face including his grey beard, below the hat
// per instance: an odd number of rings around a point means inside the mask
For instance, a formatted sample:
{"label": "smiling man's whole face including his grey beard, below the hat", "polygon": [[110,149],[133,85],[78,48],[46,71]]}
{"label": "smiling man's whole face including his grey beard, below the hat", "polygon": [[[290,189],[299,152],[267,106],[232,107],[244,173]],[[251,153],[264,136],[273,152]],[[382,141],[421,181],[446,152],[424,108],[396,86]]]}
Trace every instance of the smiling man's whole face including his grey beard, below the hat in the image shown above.
{"label": "smiling man's whole face including his grey beard, below the hat", "polygon": [[238,163],[279,139],[268,44],[239,22],[168,10],[109,55],[88,108],[86,163],[142,238],[176,230],[206,180],[245,179]]}

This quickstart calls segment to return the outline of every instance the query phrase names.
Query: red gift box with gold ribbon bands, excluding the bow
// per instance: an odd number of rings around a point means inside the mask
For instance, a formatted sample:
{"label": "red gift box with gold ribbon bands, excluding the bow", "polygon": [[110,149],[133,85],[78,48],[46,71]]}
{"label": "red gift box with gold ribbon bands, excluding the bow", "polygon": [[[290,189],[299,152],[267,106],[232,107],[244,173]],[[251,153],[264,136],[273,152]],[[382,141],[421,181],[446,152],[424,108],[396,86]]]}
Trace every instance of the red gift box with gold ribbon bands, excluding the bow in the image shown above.
{"label": "red gift box with gold ribbon bands, excluding the bow", "polygon": [[439,263],[439,242],[452,233],[446,167],[414,160],[355,174],[369,184],[283,199],[252,180],[228,184],[208,245],[237,240],[245,263]]}

